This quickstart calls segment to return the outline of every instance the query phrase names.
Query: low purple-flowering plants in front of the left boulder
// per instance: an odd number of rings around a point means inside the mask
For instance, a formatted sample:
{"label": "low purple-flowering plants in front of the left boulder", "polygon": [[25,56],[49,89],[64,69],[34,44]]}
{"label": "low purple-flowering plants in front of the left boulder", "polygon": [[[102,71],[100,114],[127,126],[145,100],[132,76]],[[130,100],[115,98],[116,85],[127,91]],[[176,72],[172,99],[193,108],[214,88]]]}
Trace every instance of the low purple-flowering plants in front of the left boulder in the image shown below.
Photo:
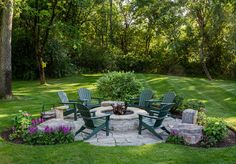
{"label": "low purple-flowering plants in front of the left boulder", "polygon": [[44,131],[39,131],[37,126],[31,126],[23,139],[30,145],[55,145],[73,142],[74,135],[71,128],[65,126],[58,129],[46,126]]}

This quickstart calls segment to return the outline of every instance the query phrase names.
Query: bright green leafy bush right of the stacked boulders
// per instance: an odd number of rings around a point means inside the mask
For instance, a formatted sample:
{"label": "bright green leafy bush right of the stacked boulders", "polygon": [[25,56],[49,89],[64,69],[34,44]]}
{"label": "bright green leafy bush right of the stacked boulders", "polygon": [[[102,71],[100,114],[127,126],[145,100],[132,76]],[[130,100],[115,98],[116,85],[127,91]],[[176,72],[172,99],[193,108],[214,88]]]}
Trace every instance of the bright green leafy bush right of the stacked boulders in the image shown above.
{"label": "bright green leafy bush right of the stacked boulders", "polygon": [[202,145],[211,147],[223,140],[228,134],[226,122],[221,118],[208,117],[203,128]]}

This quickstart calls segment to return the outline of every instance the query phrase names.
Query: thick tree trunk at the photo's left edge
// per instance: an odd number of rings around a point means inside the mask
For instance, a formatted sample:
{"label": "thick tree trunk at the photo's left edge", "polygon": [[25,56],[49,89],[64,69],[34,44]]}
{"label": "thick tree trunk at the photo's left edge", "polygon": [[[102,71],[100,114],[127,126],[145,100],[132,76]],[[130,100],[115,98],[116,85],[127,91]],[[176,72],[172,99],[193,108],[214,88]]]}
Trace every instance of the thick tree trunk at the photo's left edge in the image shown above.
{"label": "thick tree trunk at the photo's left edge", "polygon": [[11,37],[13,0],[5,0],[0,8],[0,99],[12,97]]}

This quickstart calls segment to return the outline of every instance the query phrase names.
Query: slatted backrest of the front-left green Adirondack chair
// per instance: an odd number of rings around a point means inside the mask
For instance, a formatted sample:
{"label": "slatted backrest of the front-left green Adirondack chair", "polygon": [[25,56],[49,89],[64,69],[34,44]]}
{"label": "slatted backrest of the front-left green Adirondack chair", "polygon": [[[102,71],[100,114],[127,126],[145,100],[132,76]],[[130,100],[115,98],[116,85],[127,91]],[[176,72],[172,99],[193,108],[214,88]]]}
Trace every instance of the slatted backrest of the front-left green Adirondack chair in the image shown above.
{"label": "slatted backrest of the front-left green Adirondack chair", "polygon": [[92,129],[94,128],[94,123],[93,120],[91,119],[91,113],[89,109],[82,105],[82,104],[77,104],[78,112],[80,113],[81,117],[84,120],[84,124],[87,128]]}

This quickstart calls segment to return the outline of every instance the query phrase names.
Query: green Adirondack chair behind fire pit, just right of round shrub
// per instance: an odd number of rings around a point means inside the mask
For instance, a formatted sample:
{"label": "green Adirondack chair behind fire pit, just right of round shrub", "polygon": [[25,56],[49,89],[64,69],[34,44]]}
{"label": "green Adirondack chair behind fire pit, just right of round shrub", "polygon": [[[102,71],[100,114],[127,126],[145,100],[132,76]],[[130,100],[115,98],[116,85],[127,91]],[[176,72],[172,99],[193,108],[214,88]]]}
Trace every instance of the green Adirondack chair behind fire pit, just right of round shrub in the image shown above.
{"label": "green Adirondack chair behind fire pit, just right of round shrub", "polygon": [[129,101],[129,106],[139,107],[139,108],[146,108],[146,101],[152,99],[154,93],[150,89],[145,89],[140,93],[138,98],[132,98]]}

